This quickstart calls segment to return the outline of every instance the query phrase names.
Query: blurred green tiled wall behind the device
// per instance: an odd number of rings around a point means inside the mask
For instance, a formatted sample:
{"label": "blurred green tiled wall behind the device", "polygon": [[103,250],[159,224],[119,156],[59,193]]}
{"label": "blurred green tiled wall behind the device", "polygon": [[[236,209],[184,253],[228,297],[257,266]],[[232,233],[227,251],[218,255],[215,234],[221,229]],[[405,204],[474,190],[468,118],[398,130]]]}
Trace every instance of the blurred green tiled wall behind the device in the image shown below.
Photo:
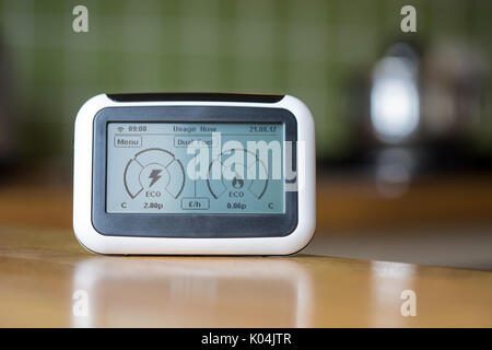
{"label": "blurred green tiled wall behind the device", "polygon": [[[89,33],[71,30],[77,4],[89,8]],[[403,4],[418,9],[417,34],[399,31]],[[488,0],[0,0],[0,38],[28,156],[68,162],[92,95],[220,91],[301,97],[318,155],[337,158],[350,143],[348,83],[389,40],[466,40],[490,63],[491,13]]]}

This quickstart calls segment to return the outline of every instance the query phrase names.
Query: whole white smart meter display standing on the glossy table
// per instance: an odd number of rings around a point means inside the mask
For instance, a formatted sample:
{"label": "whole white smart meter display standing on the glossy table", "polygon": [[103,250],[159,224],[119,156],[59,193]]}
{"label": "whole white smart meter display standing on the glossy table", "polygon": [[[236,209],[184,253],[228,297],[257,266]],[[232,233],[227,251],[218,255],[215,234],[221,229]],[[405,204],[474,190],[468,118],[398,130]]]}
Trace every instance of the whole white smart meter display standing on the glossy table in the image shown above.
{"label": "whole white smart meter display standing on the glossy table", "polygon": [[292,254],[314,233],[314,166],[291,96],[98,95],[75,121],[74,232],[102,254]]}

